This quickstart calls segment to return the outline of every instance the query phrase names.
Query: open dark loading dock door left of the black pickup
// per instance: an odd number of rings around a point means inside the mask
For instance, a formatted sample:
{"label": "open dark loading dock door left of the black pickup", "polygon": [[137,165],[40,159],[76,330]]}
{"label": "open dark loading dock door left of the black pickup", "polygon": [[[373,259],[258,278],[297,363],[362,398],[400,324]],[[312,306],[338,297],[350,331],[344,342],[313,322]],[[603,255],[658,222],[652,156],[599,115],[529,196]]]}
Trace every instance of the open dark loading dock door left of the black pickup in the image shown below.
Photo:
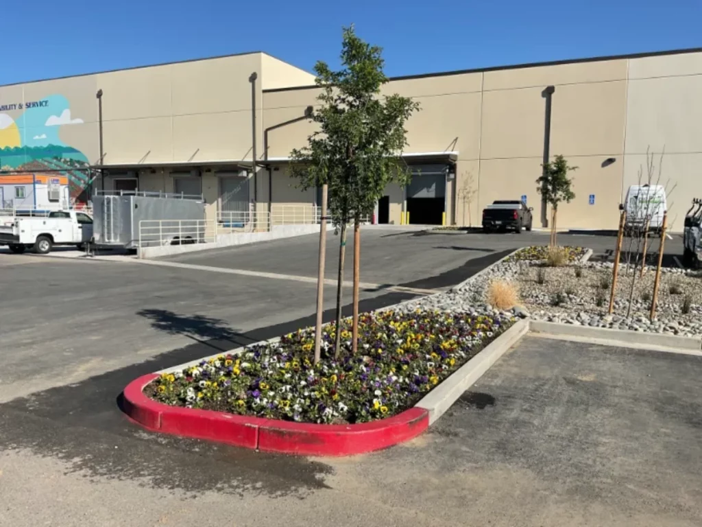
{"label": "open dark loading dock door left of the black pickup", "polygon": [[407,186],[409,223],[441,225],[446,197],[445,164],[426,164],[411,167],[412,181]]}

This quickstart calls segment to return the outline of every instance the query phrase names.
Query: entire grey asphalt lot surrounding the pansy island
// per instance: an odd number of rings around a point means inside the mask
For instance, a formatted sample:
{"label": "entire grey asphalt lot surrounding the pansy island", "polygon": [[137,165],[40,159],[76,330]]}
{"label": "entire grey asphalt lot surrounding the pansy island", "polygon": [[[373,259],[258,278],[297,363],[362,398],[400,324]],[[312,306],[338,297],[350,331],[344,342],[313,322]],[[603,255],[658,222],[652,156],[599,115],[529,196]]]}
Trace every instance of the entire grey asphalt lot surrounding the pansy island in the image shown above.
{"label": "entire grey asphalt lot surrounding the pansy island", "polygon": [[[368,229],[362,280],[449,287],[547,239],[525,234]],[[614,247],[567,236],[602,256]],[[317,242],[175,259],[287,278],[0,254],[0,523],[701,523],[698,357],[528,338],[427,434],[342,460],[149,434],[124,418],[119,393],[135,377],[310,325],[316,287],[294,277],[314,275]],[[364,290],[362,308],[410,297]]]}

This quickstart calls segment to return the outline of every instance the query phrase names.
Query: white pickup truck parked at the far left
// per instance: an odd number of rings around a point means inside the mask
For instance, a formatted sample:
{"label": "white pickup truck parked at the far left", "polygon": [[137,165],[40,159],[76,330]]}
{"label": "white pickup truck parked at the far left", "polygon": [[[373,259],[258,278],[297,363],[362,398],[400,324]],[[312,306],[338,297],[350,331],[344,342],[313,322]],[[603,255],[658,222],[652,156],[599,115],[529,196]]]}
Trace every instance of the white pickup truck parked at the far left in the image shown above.
{"label": "white pickup truck parked at the far left", "polygon": [[48,254],[54,245],[84,247],[93,238],[93,219],[84,212],[54,211],[47,216],[9,216],[0,218],[0,245],[15,254],[34,248]]}

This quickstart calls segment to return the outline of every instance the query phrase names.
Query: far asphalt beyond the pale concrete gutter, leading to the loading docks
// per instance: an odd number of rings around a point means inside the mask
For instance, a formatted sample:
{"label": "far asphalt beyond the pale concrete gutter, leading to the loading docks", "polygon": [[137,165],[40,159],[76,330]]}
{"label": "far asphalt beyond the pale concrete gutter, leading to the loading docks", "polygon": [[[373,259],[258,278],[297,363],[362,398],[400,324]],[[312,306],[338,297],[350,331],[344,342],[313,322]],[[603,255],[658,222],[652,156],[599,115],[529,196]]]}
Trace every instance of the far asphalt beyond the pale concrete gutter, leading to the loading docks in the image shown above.
{"label": "far asphalt beyond the pale concrete gutter, leading to the loading docks", "polygon": [[[345,280],[352,278],[352,233],[347,240]],[[611,235],[558,235],[559,245],[581,245],[593,249],[597,259],[611,259],[616,237]],[[457,268],[468,261],[504,254],[526,245],[548,244],[548,233],[523,232],[483,234],[399,228],[362,229],[361,280],[378,284],[414,287],[449,287],[461,280]],[[658,247],[658,240],[651,242]],[[327,235],[326,278],[336,278],[339,238]],[[214,268],[242,269],[300,276],[317,275],[319,236],[306,235],[257,245],[169,256],[164,261]],[[682,254],[680,237],[666,240],[666,254]]]}

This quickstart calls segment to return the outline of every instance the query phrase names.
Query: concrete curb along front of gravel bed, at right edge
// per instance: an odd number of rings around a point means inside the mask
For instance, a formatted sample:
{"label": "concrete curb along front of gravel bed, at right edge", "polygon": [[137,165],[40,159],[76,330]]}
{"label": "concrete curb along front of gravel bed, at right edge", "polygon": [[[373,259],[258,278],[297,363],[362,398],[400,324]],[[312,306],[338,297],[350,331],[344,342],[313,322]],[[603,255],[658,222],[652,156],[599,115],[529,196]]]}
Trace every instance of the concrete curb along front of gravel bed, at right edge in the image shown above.
{"label": "concrete curb along front of gravel bed, at right edge", "polygon": [[679,337],[677,335],[663,335],[627,330],[611,330],[606,327],[589,327],[574,324],[559,324],[543,320],[530,320],[529,331],[567,337],[597,339],[610,341],[624,347],[656,346],[668,349],[700,351],[702,339],[693,337]]}

